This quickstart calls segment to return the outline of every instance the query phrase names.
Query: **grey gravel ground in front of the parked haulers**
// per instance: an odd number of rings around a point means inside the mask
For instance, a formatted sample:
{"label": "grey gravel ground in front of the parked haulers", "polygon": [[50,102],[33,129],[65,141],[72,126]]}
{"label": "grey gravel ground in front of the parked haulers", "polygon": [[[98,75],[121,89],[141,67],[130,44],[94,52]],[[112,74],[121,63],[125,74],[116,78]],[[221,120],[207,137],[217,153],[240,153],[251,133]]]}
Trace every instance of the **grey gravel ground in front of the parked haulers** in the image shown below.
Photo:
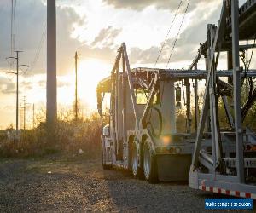
{"label": "grey gravel ground in front of the parked haulers", "polygon": [[216,195],[104,171],[100,158],[0,160],[1,212],[203,212],[207,198]]}

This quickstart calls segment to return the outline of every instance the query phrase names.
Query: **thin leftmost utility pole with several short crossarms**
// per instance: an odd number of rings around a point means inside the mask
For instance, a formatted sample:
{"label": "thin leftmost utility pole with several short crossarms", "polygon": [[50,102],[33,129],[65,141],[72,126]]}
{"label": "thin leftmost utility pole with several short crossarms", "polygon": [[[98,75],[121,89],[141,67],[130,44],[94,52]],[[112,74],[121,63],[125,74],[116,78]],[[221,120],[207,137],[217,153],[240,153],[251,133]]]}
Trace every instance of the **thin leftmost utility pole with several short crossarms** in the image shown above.
{"label": "thin leftmost utility pole with several short crossarms", "polygon": [[16,75],[16,137],[18,138],[19,135],[19,68],[21,66],[27,65],[19,65],[19,53],[22,53],[23,51],[15,51],[16,57],[8,57],[6,59],[15,59],[16,60],[16,72],[10,72],[12,74]]}

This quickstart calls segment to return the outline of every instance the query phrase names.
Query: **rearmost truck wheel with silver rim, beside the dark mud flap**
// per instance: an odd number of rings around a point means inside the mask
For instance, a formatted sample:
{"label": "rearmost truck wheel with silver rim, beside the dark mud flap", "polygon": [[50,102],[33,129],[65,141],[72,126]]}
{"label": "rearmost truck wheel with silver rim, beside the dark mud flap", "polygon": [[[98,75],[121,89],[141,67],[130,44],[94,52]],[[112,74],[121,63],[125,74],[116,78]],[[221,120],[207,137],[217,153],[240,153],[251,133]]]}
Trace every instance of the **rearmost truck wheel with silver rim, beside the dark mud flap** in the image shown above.
{"label": "rearmost truck wheel with silver rim, beside the dark mud flap", "polygon": [[144,155],[143,155],[143,170],[145,179],[149,183],[157,183],[158,180],[158,171],[157,171],[157,162],[155,156],[150,152],[150,147],[148,142],[145,141],[144,146]]}

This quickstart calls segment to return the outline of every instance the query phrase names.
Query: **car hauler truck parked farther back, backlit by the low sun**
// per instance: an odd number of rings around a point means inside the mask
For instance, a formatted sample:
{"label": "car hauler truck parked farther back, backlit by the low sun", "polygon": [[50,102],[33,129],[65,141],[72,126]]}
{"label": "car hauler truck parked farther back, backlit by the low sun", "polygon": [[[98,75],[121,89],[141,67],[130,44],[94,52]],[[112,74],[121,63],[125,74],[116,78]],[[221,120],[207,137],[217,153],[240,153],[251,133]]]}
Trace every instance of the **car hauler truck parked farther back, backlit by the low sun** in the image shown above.
{"label": "car hauler truck parked farther back, backlit by the low sun", "polygon": [[[207,71],[130,70],[125,49],[123,43],[111,76],[103,79],[96,89],[98,112],[102,117],[103,168],[131,170],[133,176],[145,177],[149,182],[187,181],[199,120],[198,81],[207,79]],[[256,72],[248,73],[248,77],[253,74]],[[231,71],[217,72],[218,78],[231,75]],[[230,93],[230,85],[220,82],[225,90],[223,94]],[[180,131],[177,112],[181,110],[182,97],[186,99],[181,121],[185,128]],[[107,112],[104,112],[104,101],[109,105]],[[206,150],[211,147],[209,136],[203,147]],[[235,153],[234,144],[224,140],[224,154],[232,153]]]}

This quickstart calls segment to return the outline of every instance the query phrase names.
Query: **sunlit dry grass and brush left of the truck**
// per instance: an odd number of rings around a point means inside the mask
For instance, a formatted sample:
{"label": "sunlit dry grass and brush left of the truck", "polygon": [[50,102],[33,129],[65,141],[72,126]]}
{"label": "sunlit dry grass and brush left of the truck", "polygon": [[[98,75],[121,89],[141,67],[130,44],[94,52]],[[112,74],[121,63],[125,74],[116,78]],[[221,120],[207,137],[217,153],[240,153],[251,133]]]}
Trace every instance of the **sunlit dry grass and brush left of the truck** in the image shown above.
{"label": "sunlit dry grass and brush left of the truck", "polygon": [[21,131],[20,141],[10,141],[1,136],[0,158],[40,157],[52,153],[73,157],[98,156],[101,152],[100,118],[95,113],[80,122],[89,125],[77,125],[72,119],[59,119],[54,138],[49,136],[45,123],[38,124],[33,130]]}

